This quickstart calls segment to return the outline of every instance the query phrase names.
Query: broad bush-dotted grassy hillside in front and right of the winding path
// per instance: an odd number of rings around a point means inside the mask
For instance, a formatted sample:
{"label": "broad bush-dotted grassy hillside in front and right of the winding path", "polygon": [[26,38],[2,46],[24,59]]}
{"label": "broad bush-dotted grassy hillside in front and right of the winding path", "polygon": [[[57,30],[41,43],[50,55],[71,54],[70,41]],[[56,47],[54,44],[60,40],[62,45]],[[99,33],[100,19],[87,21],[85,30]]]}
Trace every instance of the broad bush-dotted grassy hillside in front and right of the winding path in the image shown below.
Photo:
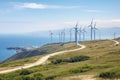
{"label": "broad bush-dotted grassy hillside in front and right of the winding path", "polygon": [[[97,79],[120,78],[120,45],[115,46],[114,42],[109,40],[88,41],[81,44],[86,45],[87,48],[54,56],[49,58],[48,64],[2,74],[0,78],[2,80],[11,78],[12,80],[81,80],[79,77],[70,78],[80,75],[94,75]],[[80,59],[78,56],[89,58],[78,60]],[[54,61],[61,62],[55,64]]]}

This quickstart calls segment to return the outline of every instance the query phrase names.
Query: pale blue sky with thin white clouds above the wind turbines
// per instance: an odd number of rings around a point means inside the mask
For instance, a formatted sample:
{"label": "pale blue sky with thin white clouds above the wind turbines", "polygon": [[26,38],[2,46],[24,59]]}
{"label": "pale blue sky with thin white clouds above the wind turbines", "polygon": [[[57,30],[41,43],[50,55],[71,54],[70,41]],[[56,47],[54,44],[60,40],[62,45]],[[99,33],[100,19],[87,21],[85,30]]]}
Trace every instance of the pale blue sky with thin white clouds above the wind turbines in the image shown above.
{"label": "pale blue sky with thin white clouds above the wind turbines", "polygon": [[86,27],[120,27],[120,0],[0,0],[0,34]]}

